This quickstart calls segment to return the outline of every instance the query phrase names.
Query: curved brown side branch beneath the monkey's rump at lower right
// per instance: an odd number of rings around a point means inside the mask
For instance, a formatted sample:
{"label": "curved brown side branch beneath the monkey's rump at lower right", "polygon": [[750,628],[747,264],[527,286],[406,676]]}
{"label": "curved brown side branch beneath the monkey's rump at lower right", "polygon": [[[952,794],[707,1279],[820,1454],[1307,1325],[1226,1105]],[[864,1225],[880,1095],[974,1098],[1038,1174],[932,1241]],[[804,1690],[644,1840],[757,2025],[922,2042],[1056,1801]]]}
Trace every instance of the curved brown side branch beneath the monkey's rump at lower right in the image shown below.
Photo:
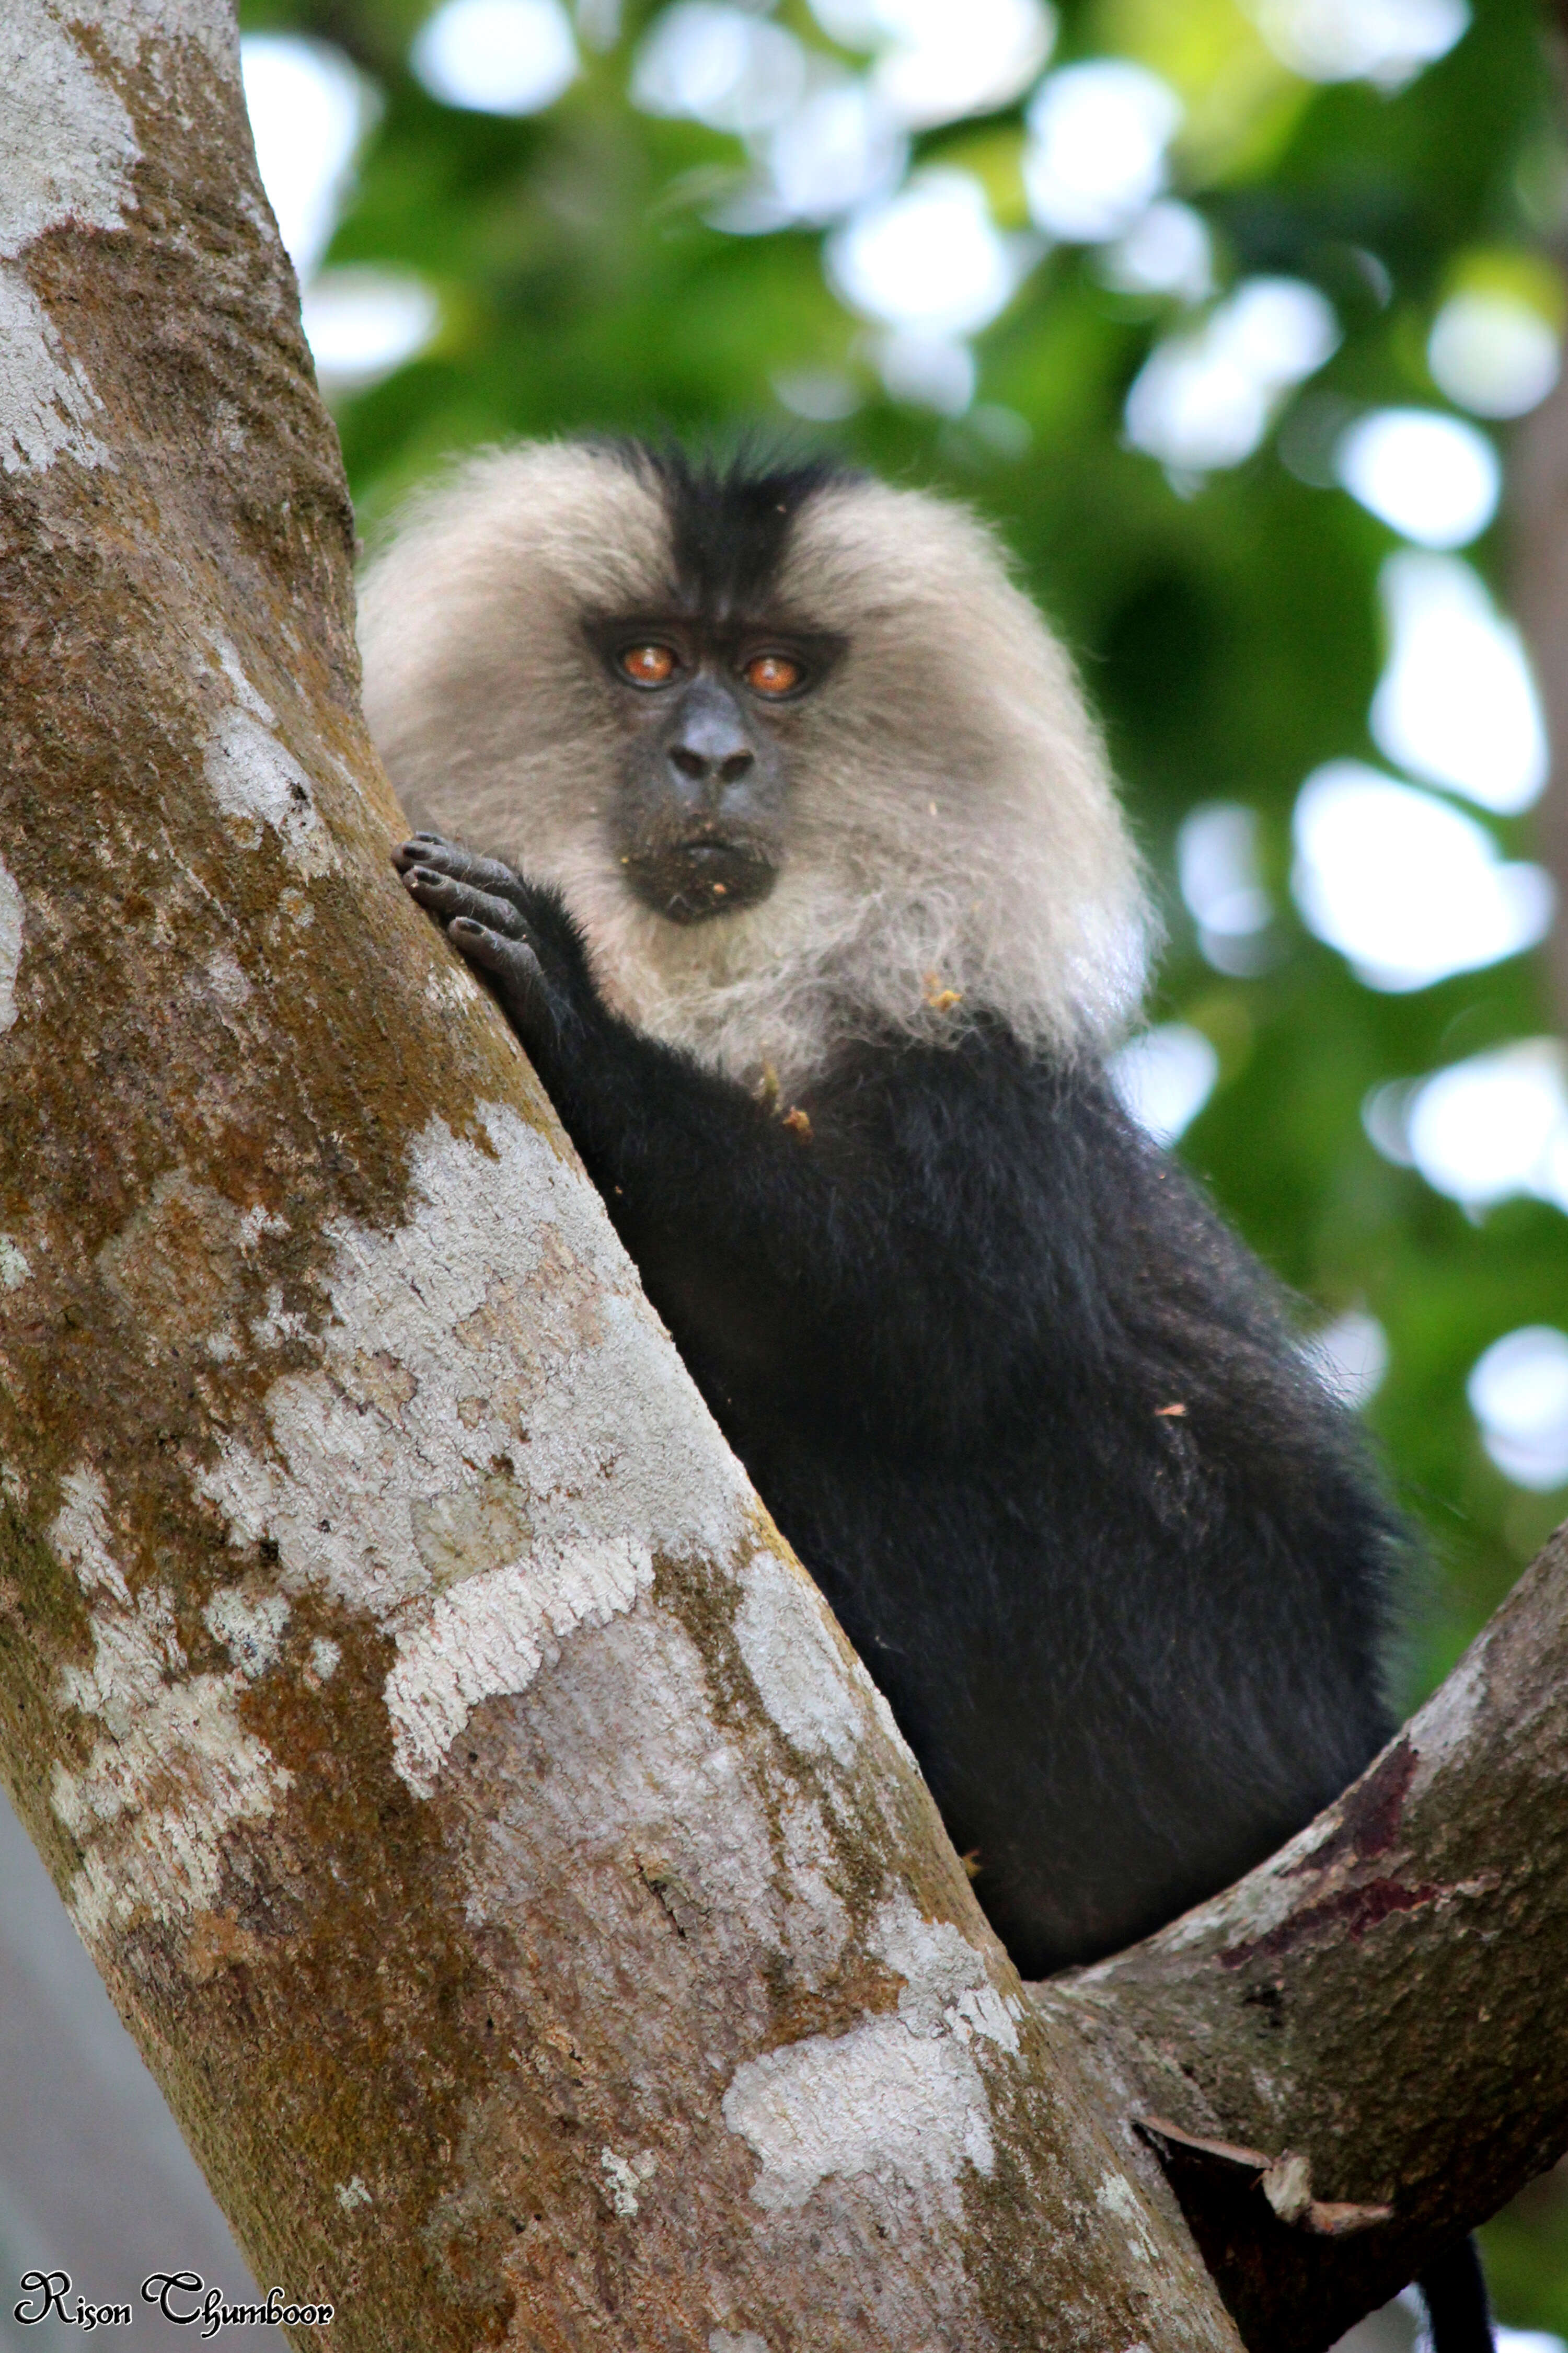
{"label": "curved brown side branch beneath the monkey's rump at lower right", "polygon": [[1143,2120],[1248,2346],[1333,2341],[1544,2172],[1568,2144],[1568,1532],[1312,1828],[1034,2000],[1093,2047],[1105,2113]]}

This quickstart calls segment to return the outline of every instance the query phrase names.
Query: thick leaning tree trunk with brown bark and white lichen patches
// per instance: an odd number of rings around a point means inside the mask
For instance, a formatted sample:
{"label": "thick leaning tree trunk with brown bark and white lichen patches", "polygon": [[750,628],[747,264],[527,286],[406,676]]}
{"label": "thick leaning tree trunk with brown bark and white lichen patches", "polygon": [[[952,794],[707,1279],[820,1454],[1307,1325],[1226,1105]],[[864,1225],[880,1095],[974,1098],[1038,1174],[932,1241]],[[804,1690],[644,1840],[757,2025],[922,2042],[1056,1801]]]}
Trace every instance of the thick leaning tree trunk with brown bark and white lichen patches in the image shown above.
{"label": "thick leaning tree trunk with brown bark and white lichen patches", "polygon": [[256,2278],[1234,2346],[390,873],[233,26],[0,47],[5,1772]]}

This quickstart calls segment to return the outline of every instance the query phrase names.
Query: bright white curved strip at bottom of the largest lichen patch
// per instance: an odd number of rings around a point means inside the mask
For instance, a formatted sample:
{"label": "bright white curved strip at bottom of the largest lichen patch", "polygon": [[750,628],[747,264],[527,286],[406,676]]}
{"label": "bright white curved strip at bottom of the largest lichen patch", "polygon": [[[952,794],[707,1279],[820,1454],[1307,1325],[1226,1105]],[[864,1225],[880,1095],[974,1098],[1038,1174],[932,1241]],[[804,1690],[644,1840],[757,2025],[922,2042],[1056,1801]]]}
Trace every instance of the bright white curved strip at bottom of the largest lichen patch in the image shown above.
{"label": "bright white curved strip at bottom of the largest lichen patch", "polygon": [[428,1798],[442,1758],[482,1699],[527,1692],[578,1626],[609,1626],[654,1584],[644,1544],[611,1537],[550,1558],[538,1551],[442,1593],[428,1619],[397,1631],[386,1678],[393,1762]]}

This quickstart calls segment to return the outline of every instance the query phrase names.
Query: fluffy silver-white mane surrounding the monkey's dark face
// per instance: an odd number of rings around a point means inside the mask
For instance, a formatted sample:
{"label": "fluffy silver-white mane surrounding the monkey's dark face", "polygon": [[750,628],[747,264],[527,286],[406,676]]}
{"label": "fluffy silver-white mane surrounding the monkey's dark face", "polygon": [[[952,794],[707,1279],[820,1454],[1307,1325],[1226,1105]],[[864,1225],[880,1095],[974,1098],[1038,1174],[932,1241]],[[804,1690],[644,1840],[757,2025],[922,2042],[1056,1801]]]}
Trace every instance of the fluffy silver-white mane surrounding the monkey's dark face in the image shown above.
{"label": "fluffy silver-white mane surrounding the monkey's dark face", "polygon": [[621,880],[618,732],[585,614],[672,602],[654,473],[524,445],[425,494],[360,602],[364,711],[409,816],[555,882],[604,995],[743,1082],[797,1087],[844,1038],[1103,1049],[1150,920],[1072,666],[964,508],[827,482],[778,607],[846,654],[797,706],[785,864],[757,908],[679,927]]}

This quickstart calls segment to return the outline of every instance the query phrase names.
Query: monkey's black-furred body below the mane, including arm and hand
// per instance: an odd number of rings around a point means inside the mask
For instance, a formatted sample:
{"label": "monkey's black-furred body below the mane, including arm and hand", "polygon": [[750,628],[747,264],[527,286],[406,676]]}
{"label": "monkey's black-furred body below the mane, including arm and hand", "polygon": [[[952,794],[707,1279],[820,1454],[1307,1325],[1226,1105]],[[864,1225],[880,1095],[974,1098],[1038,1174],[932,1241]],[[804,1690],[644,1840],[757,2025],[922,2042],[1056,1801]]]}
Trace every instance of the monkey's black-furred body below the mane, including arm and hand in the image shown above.
{"label": "monkey's black-furred body below the mane, including arm and hand", "polygon": [[715,1419],[1025,1977],[1269,1854],[1389,1732],[1399,1529],[1267,1278],[1086,1066],[865,1042],[785,1125],[418,838]]}

